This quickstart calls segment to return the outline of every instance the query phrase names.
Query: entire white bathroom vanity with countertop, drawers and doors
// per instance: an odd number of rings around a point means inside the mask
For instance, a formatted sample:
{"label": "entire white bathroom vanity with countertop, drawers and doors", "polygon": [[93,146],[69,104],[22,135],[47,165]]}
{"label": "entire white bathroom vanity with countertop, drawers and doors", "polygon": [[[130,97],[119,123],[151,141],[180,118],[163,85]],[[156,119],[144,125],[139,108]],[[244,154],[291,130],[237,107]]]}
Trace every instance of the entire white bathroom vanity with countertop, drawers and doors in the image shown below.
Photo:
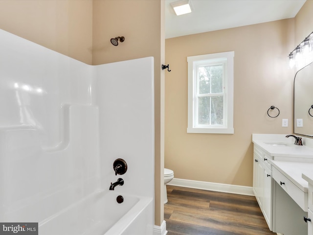
{"label": "entire white bathroom vanity with countertop, drawers and doors", "polygon": [[269,229],[313,235],[313,139],[300,146],[286,135],[252,134],[252,142],[253,192]]}

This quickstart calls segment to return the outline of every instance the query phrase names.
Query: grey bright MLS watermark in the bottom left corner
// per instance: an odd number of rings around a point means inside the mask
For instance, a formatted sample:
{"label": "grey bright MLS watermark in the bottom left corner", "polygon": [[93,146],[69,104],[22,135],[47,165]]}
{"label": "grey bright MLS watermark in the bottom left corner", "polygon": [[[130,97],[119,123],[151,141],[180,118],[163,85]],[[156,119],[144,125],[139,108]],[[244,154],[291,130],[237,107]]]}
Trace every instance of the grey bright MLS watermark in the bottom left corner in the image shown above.
{"label": "grey bright MLS watermark in the bottom left corner", "polygon": [[38,235],[38,223],[0,223],[0,235]]}

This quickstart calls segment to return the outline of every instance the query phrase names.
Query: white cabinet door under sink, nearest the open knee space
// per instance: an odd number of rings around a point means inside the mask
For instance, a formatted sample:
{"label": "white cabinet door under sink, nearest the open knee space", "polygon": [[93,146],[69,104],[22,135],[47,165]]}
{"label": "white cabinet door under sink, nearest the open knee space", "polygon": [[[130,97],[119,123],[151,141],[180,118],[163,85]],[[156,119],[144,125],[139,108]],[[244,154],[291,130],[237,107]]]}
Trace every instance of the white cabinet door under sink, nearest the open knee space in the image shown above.
{"label": "white cabinet door under sink, nearest the open knee space", "polygon": [[263,198],[263,214],[268,228],[272,231],[272,177],[270,170],[264,168],[264,198]]}

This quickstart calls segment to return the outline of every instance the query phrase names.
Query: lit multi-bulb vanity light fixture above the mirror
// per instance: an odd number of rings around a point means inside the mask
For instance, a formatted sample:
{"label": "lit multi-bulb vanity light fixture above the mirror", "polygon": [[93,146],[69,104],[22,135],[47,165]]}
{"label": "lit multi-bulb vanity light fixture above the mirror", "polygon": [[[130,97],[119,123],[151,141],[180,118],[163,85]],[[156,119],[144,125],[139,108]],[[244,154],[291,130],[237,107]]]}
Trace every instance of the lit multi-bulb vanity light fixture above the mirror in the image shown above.
{"label": "lit multi-bulb vanity light fixture above the mirror", "polygon": [[288,55],[289,67],[301,69],[313,62],[313,32]]}

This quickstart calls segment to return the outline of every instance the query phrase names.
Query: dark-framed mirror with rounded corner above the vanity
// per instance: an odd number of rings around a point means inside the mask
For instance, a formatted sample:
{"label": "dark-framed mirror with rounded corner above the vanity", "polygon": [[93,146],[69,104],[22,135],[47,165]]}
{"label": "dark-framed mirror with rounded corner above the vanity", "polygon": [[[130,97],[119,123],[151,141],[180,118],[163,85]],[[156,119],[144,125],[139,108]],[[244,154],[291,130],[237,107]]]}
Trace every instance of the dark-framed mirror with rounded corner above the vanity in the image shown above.
{"label": "dark-framed mirror with rounded corner above the vanity", "polygon": [[313,63],[294,77],[293,133],[313,137]]}

